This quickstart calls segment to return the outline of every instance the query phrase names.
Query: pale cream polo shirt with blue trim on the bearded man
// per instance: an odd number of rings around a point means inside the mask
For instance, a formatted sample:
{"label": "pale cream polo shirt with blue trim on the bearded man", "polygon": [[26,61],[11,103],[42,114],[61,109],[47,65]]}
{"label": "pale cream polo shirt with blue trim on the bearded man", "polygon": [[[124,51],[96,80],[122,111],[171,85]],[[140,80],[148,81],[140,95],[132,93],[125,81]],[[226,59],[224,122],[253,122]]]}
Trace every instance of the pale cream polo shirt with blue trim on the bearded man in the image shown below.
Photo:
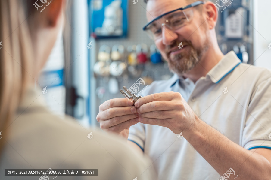
{"label": "pale cream polo shirt with blue trim on the bearded man", "polygon": [[[195,84],[174,75],[169,80],[153,82],[142,94],[168,91],[180,92],[201,120],[245,149],[271,149],[269,70],[243,64],[231,51]],[[161,180],[220,178],[185,138],[179,140],[168,128],[138,123],[130,128],[128,139],[154,161]]]}

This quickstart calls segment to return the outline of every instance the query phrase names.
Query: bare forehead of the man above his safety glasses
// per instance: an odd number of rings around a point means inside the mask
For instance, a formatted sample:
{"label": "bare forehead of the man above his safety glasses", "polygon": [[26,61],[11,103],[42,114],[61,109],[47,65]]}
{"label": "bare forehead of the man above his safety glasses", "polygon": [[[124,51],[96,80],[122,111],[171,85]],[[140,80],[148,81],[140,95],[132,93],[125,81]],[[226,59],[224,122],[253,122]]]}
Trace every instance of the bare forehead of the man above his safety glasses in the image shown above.
{"label": "bare forehead of the man above his safety glasses", "polygon": [[149,0],[146,7],[148,22],[164,13],[188,4],[186,0]]}

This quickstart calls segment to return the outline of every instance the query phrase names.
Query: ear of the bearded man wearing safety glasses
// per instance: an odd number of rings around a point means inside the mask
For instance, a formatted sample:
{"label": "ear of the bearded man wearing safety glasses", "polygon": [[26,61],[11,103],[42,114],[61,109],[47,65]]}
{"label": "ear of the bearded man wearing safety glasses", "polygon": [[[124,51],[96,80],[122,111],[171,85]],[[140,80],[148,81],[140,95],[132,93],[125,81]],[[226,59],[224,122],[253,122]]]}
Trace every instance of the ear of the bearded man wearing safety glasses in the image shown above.
{"label": "ear of the bearded man wearing safety glasses", "polygon": [[216,10],[215,5],[208,1],[204,4],[204,12],[206,12],[206,21],[208,22],[209,25],[209,29],[213,29],[216,26],[216,21],[217,21],[217,16],[218,16],[218,12]]}

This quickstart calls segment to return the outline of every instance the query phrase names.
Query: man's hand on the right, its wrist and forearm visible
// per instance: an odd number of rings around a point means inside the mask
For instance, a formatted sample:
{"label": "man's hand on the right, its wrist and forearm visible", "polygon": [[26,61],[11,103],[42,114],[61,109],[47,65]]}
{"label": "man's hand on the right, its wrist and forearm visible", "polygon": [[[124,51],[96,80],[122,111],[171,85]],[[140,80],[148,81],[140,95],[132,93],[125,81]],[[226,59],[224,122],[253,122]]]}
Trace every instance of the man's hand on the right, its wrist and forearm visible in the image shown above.
{"label": "man's hand on the right, its wrist and forearm visible", "polygon": [[198,118],[178,92],[151,94],[136,101],[141,123],[169,128],[175,134],[188,131]]}

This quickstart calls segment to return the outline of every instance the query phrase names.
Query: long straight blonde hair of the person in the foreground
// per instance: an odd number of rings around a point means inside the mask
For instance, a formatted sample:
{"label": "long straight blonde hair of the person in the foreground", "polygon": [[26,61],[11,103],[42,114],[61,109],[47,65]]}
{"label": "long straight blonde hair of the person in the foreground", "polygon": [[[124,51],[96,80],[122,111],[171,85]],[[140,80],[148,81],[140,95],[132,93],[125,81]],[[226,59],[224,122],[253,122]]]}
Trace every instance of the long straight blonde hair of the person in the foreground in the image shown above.
{"label": "long straight blonde hair of the person in the foreground", "polygon": [[[8,125],[33,73],[32,44],[27,17],[32,10],[30,0],[0,1],[0,153]],[[32,5],[33,6],[33,5]],[[36,8],[33,7],[35,10]]]}

